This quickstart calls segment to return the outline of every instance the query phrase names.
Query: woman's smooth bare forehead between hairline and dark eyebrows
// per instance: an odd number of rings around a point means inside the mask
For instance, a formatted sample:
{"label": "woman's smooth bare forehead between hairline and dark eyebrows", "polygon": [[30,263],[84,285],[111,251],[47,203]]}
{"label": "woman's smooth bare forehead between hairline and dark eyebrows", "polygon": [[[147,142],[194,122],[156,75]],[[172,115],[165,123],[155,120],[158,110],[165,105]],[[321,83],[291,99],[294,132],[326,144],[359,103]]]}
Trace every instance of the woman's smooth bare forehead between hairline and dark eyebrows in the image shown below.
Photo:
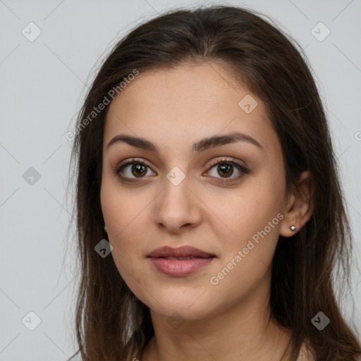
{"label": "woman's smooth bare forehead between hairline and dark eyebrows", "polygon": [[266,149],[277,140],[263,102],[221,66],[204,63],[140,72],[111,102],[104,138],[126,133],[175,145],[232,131]]}

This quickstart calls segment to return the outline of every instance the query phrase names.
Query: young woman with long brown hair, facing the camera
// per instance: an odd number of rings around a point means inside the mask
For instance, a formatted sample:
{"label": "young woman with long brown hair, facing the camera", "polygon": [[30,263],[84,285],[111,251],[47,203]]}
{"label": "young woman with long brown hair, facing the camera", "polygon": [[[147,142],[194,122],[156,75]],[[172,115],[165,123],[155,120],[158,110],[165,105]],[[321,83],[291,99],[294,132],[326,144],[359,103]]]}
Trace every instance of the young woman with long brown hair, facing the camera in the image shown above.
{"label": "young woman with long brown hair, facing the camera", "polygon": [[259,13],[136,27],[75,129],[82,360],[357,360],[350,229],[307,62]]}

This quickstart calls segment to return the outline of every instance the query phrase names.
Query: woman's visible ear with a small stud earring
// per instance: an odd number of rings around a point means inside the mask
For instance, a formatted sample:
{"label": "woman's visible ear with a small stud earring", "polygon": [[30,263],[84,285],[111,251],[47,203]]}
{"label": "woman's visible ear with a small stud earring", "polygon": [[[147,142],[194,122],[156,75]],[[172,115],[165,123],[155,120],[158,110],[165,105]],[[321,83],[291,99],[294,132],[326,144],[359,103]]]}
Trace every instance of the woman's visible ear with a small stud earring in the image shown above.
{"label": "woman's visible ear with a small stud earring", "polygon": [[[312,216],[314,209],[315,184],[310,171],[304,171],[298,178],[297,185],[293,186],[292,193],[288,196],[281,221],[280,235],[290,237],[302,228]],[[295,226],[297,231],[291,231],[290,226]]]}

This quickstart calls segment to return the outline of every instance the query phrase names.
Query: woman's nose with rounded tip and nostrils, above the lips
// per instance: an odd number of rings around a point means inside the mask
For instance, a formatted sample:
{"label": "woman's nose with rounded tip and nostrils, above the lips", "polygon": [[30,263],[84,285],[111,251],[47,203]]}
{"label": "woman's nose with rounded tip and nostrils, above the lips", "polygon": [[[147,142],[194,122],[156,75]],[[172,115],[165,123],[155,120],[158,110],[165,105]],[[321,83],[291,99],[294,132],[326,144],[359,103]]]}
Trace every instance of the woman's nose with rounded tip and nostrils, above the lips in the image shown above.
{"label": "woman's nose with rounded tip and nostrils, above the lips", "polygon": [[202,201],[188,188],[187,178],[178,185],[164,178],[164,190],[156,202],[154,221],[169,233],[182,233],[200,224]]}

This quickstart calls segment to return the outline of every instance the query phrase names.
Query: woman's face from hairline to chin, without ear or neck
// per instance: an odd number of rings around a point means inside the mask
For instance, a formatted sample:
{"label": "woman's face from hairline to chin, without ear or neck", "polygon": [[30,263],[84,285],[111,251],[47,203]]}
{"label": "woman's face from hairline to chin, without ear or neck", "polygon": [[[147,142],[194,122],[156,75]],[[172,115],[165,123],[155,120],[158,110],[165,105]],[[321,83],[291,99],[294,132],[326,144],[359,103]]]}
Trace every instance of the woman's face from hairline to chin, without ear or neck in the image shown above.
{"label": "woman's face from hairline to chin, without ear or neck", "polygon": [[[264,104],[215,64],[140,73],[109,106],[101,203],[116,267],[153,312],[201,319],[267,295],[286,184]],[[214,257],[148,257],[163,246]]]}

